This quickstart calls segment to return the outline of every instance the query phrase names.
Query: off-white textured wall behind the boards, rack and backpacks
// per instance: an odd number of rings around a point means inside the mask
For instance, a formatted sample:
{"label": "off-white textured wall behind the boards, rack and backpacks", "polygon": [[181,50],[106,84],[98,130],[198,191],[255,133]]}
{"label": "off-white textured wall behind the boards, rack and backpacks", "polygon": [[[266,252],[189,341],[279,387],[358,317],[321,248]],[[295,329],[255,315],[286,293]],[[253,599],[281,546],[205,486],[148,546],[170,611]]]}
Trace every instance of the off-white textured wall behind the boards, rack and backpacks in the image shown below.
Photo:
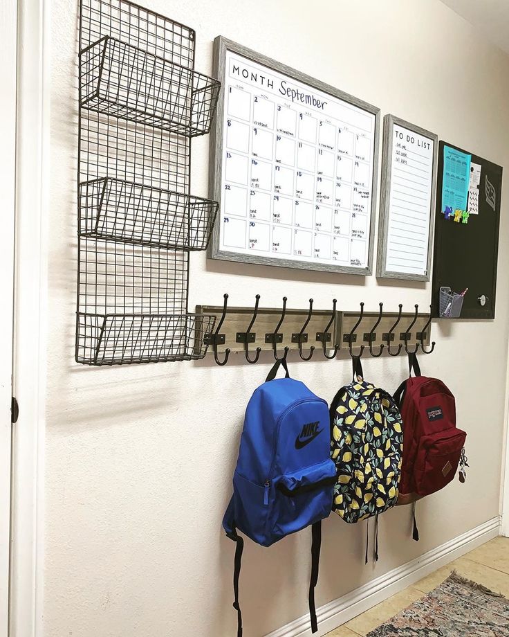
{"label": "off-white textured wall behind the boards, rack and backpacks", "polygon": [[[233,545],[221,532],[243,409],[270,359],[217,368],[207,361],[86,368],[73,361],[76,271],[77,1],[52,8],[51,184],[44,627],[46,637],[227,637]],[[211,72],[225,35],[388,112],[509,165],[509,57],[438,0],[150,0],[196,28],[196,68]],[[193,145],[193,188],[207,195],[208,139]],[[509,179],[505,180],[497,319],[434,326],[423,371],[455,393],[468,431],[468,482],[420,505],[419,544],[408,510],[381,521],[381,558],[364,566],[364,526],[325,524],[319,605],[407,562],[499,512],[508,340]],[[281,302],[341,309],[429,303],[429,286],[375,277],[210,262],[192,255],[191,307]],[[330,399],[349,361],[292,365]],[[295,357],[293,357],[295,361]],[[404,359],[366,361],[389,391]],[[489,402],[483,402],[488,395]],[[246,637],[306,613],[308,532],[272,548],[248,542],[241,593]]]}

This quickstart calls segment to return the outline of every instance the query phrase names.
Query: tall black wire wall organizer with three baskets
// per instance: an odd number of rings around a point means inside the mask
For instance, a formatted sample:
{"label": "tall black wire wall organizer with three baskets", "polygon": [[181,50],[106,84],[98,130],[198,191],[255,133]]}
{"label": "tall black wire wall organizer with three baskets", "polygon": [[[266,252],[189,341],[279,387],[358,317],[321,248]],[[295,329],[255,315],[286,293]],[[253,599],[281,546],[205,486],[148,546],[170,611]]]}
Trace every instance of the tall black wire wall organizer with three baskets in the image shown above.
{"label": "tall black wire wall organizer with three baskets", "polygon": [[200,359],[214,316],[187,311],[189,253],[218,204],[189,193],[191,138],[220,84],[194,30],[126,0],[81,0],[76,361]]}

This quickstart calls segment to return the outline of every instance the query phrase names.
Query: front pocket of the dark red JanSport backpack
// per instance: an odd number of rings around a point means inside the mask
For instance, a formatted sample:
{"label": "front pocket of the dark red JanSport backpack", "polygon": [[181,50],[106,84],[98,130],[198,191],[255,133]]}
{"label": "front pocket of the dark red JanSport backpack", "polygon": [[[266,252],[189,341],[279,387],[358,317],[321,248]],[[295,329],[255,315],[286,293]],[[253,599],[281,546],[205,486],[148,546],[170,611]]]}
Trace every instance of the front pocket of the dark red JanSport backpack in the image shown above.
{"label": "front pocket of the dark red JanSport backpack", "polygon": [[452,481],[466,437],[465,431],[451,427],[420,438],[414,472],[418,495],[427,496]]}

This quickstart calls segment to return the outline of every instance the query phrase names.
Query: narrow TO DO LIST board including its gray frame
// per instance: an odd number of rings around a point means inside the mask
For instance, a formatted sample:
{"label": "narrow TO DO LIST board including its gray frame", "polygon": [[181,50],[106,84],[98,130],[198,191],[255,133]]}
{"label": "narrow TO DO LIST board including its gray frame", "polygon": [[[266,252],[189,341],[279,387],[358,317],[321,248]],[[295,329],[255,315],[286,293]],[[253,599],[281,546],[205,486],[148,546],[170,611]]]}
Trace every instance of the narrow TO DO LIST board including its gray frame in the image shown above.
{"label": "narrow TO DO LIST board including its gray frame", "polygon": [[429,281],[438,138],[384,118],[377,276]]}

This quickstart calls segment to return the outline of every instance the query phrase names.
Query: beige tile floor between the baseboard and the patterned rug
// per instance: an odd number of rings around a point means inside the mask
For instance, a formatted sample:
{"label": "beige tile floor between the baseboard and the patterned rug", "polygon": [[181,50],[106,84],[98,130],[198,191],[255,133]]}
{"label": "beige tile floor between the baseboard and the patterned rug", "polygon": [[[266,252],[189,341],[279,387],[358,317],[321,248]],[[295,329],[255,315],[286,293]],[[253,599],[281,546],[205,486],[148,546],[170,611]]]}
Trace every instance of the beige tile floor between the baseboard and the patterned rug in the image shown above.
{"label": "beige tile floor between the baseboard and the patterned rug", "polygon": [[[509,598],[509,537],[496,537],[336,628],[327,637],[365,637],[456,572]],[[466,636],[465,636],[466,637]]]}

